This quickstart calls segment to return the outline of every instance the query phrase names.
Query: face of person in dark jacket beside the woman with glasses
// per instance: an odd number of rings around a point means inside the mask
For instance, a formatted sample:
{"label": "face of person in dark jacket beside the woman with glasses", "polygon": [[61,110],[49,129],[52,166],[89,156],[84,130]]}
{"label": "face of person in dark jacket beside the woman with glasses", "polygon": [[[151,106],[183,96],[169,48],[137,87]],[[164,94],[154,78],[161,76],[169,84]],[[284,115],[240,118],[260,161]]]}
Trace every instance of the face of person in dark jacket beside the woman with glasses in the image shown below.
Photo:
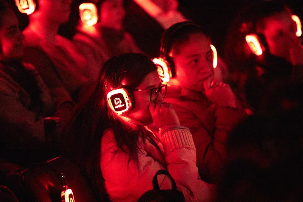
{"label": "face of person in dark jacket beside the woman with glasses", "polygon": [[210,40],[202,33],[195,33],[170,52],[175,64],[176,79],[184,88],[204,91],[204,81],[214,77],[213,52]]}

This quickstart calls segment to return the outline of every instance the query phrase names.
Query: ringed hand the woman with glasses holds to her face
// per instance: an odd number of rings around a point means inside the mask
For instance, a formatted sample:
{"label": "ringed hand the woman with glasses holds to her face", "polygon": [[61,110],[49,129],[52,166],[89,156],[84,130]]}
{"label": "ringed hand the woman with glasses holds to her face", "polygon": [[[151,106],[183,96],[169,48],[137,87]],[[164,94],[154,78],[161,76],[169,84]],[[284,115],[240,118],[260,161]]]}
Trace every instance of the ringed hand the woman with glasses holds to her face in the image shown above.
{"label": "ringed hand the woman with glasses holds to her face", "polygon": [[179,118],[170,103],[150,103],[149,111],[155,126],[158,128],[169,125],[180,125]]}

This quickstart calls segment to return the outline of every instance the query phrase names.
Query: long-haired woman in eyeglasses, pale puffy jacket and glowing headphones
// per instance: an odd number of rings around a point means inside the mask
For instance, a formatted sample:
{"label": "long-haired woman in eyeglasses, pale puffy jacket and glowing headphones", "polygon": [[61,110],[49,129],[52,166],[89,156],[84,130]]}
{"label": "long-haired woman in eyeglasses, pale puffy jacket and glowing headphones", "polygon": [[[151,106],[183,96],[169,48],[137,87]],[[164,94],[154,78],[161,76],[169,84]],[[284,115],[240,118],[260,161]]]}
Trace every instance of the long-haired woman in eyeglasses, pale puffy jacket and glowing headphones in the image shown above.
{"label": "long-haired woman in eyeglasses, pale puffy jacket and glowing headphones", "polygon": [[[156,65],[143,54],[125,53],[103,66],[66,130],[64,152],[86,170],[101,200],[137,201],[153,189],[161,169],[186,201],[210,200],[211,187],[198,180],[191,133],[163,101],[165,94]],[[168,177],[160,175],[158,182],[171,189]]]}

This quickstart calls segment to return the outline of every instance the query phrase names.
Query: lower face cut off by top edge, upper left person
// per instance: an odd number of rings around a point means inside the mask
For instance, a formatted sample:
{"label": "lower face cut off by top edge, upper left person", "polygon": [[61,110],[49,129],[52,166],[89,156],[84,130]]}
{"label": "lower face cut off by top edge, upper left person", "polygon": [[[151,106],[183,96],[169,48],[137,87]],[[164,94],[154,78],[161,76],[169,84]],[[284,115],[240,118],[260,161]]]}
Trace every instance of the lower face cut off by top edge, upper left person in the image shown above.
{"label": "lower face cut off by top edge, upper left person", "polygon": [[63,24],[68,21],[72,0],[39,0],[38,12],[49,21]]}

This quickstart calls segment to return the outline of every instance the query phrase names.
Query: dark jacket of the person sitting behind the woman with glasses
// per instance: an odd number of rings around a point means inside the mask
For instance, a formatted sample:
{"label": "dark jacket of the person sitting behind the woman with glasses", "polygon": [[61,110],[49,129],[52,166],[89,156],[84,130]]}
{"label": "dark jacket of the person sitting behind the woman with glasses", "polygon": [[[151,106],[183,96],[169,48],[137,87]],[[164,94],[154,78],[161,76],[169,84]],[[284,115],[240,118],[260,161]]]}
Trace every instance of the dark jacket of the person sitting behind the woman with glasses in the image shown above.
{"label": "dark jacket of the person sitting behind the woman with glasses", "polygon": [[234,126],[245,116],[238,109],[215,105],[199,117],[182,105],[174,104],[181,125],[190,129],[197,149],[197,167],[207,182],[215,182],[226,160],[226,141]]}

